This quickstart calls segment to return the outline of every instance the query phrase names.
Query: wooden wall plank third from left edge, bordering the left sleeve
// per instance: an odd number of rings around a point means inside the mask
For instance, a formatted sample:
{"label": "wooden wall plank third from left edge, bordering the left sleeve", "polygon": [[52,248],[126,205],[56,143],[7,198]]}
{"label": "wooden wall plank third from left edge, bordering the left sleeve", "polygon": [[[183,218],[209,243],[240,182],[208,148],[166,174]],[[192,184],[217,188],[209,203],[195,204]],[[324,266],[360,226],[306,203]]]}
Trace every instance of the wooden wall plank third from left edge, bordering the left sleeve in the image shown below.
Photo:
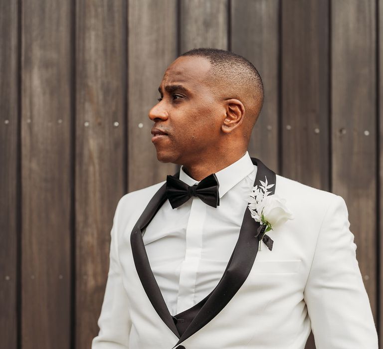
{"label": "wooden wall plank third from left edge, bordering the left sleeve", "polygon": [[76,1],[76,348],[90,348],[125,192],[126,2]]}

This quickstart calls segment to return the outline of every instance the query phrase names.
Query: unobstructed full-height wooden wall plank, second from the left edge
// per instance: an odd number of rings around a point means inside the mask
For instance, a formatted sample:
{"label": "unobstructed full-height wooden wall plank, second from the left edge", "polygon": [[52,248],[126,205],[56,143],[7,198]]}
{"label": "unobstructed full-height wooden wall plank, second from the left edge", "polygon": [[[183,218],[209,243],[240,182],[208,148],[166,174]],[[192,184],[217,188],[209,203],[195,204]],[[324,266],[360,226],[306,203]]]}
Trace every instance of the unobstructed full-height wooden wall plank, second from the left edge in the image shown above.
{"label": "unobstructed full-height wooden wall plank, second from the left edge", "polygon": [[21,347],[70,347],[71,4],[21,13]]}

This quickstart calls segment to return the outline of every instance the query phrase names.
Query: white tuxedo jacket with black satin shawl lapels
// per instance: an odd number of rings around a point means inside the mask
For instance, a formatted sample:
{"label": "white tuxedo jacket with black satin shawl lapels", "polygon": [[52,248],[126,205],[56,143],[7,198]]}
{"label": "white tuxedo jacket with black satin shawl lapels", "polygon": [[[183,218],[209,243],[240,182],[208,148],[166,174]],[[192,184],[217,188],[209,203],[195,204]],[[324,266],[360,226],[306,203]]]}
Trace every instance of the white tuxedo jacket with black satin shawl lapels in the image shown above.
{"label": "white tuxedo jacket with black satin shawl lapels", "polygon": [[[221,280],[173,319],[156,283],[141,231],[167,200],[165,182],[124,195],[111,230],[100,332],[92,349],[377,349],[378,337],[356,259],[344,199],[276,175],[258,159],[254,184],[275,183],[294,215],[267,234],[244,212]],[[249,188],[250,190],[250,188]],[[189,321],[180,335],[177,321]]]}

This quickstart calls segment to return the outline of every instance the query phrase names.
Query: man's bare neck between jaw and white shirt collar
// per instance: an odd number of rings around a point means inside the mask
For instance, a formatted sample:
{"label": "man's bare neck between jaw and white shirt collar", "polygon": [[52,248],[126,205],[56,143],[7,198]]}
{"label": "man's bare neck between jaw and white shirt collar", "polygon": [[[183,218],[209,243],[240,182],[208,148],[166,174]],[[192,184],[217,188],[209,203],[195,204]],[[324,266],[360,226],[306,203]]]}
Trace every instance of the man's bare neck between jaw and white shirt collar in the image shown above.
{"label": "man's bare neck between jaw and white shirt collar", "polygon": [[246,152],[227,159],[215,159],[214,162],[199,162],[189,166],[184,165],[183,170],[190,177],[199,181],[207,177],[209,174],[215,174],[218,171],[230,166],[241,159],[245,154]]}

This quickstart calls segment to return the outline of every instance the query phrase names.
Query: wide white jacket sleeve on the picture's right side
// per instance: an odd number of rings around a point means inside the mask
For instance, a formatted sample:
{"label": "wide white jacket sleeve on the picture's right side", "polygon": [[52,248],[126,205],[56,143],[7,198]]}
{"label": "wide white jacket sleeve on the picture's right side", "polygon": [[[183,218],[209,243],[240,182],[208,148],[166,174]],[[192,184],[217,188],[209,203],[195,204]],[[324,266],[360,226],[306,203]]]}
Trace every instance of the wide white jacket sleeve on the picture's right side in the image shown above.
{"label": "wide white jacket sleeve on the picture's right side", "polygon": [[378,349],[343,197],[334,196],[319,231],[305,287],[317,349]]}

